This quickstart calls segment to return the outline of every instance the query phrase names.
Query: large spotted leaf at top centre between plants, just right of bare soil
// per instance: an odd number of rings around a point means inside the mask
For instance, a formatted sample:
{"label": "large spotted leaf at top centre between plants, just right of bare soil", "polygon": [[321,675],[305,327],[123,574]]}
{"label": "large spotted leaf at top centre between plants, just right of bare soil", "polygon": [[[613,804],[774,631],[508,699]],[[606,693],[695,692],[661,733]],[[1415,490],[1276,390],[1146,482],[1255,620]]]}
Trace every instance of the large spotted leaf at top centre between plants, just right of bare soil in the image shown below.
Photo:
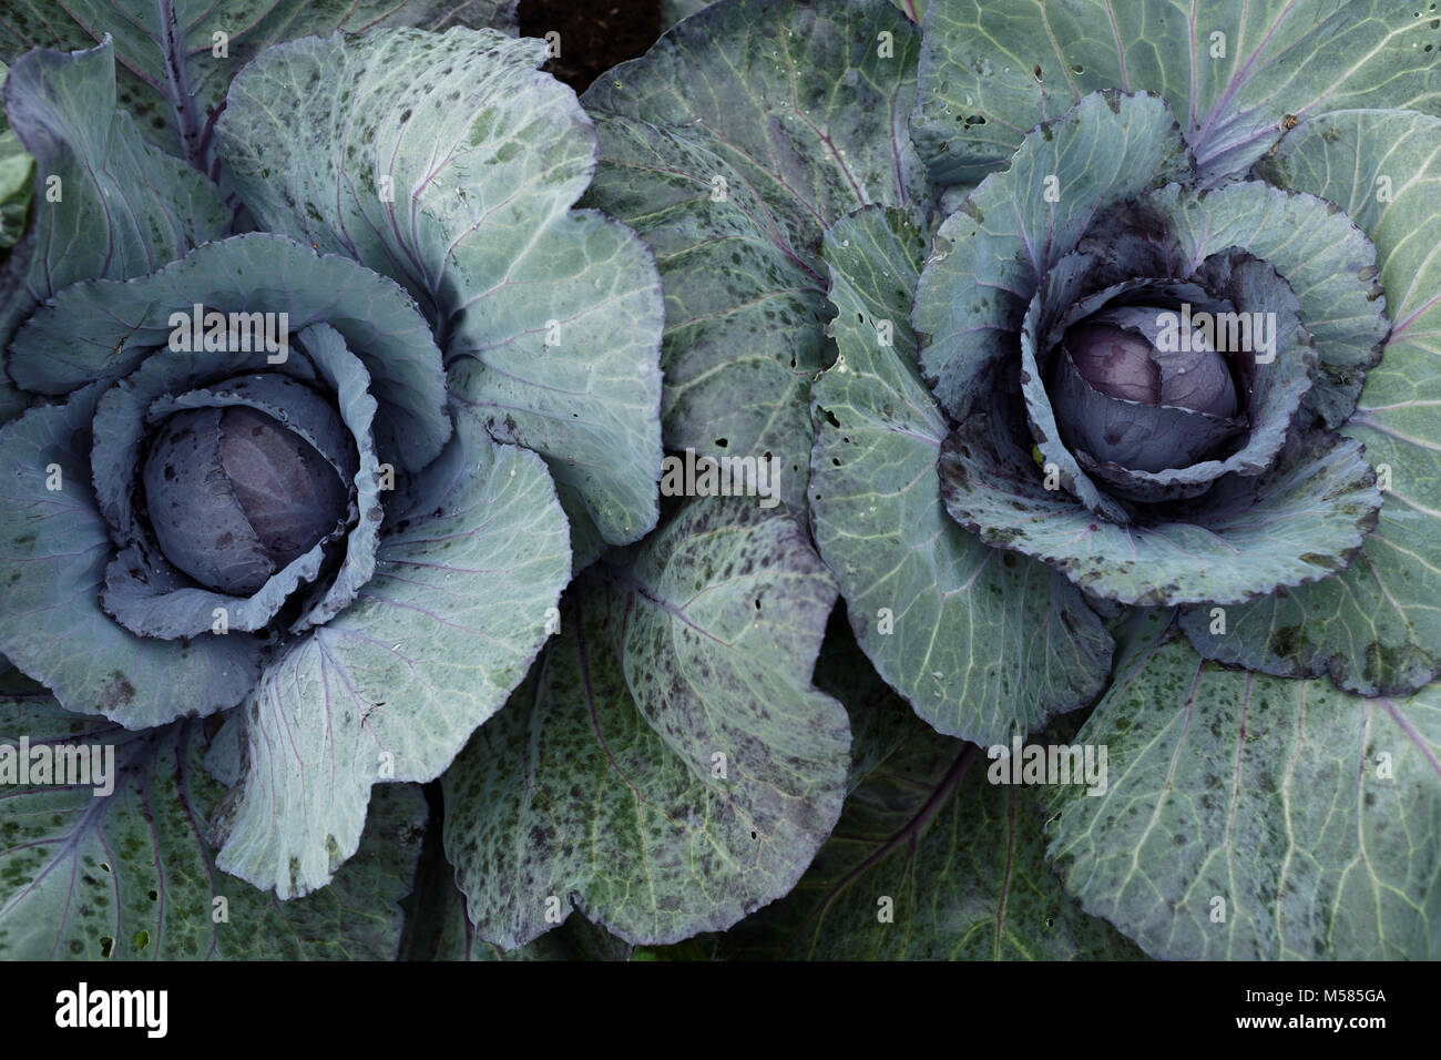
{"label": "large spotted leaf at top centre between plants, just right of bare soil", "polygon": [[924,198],[905,130],[919,32],[866,0],[723,0],[585,94],[588,203],[631,224],[666,286],[666,444],[774,456],[801,511],[826,359],[824,229]]}

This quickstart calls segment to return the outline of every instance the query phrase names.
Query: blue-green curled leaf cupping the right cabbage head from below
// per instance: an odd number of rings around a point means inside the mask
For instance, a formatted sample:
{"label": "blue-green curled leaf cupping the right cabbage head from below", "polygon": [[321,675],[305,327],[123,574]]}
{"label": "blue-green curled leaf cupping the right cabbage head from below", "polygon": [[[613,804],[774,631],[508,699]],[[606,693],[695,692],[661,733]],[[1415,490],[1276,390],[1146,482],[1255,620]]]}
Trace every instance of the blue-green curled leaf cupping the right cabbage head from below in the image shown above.
{"label": "blue-green curled leaf cupping the right cabbage head from below", "polygon": [[[1003,392],[999,381],[991,392]],[[1043,560],[1088,593],[1127,604],[1231,604],[1324,578],[1350,562],[1380,506],[1360,446],[1307,431],[1259,477],[1228,476],[1187,505],[1172,502],[1164,516],[1115,524],[1048,489],[1014,443],[1022,430],[1006,410],[973,410],[965,433],[947,437],[947,511],[981,541]]]}

